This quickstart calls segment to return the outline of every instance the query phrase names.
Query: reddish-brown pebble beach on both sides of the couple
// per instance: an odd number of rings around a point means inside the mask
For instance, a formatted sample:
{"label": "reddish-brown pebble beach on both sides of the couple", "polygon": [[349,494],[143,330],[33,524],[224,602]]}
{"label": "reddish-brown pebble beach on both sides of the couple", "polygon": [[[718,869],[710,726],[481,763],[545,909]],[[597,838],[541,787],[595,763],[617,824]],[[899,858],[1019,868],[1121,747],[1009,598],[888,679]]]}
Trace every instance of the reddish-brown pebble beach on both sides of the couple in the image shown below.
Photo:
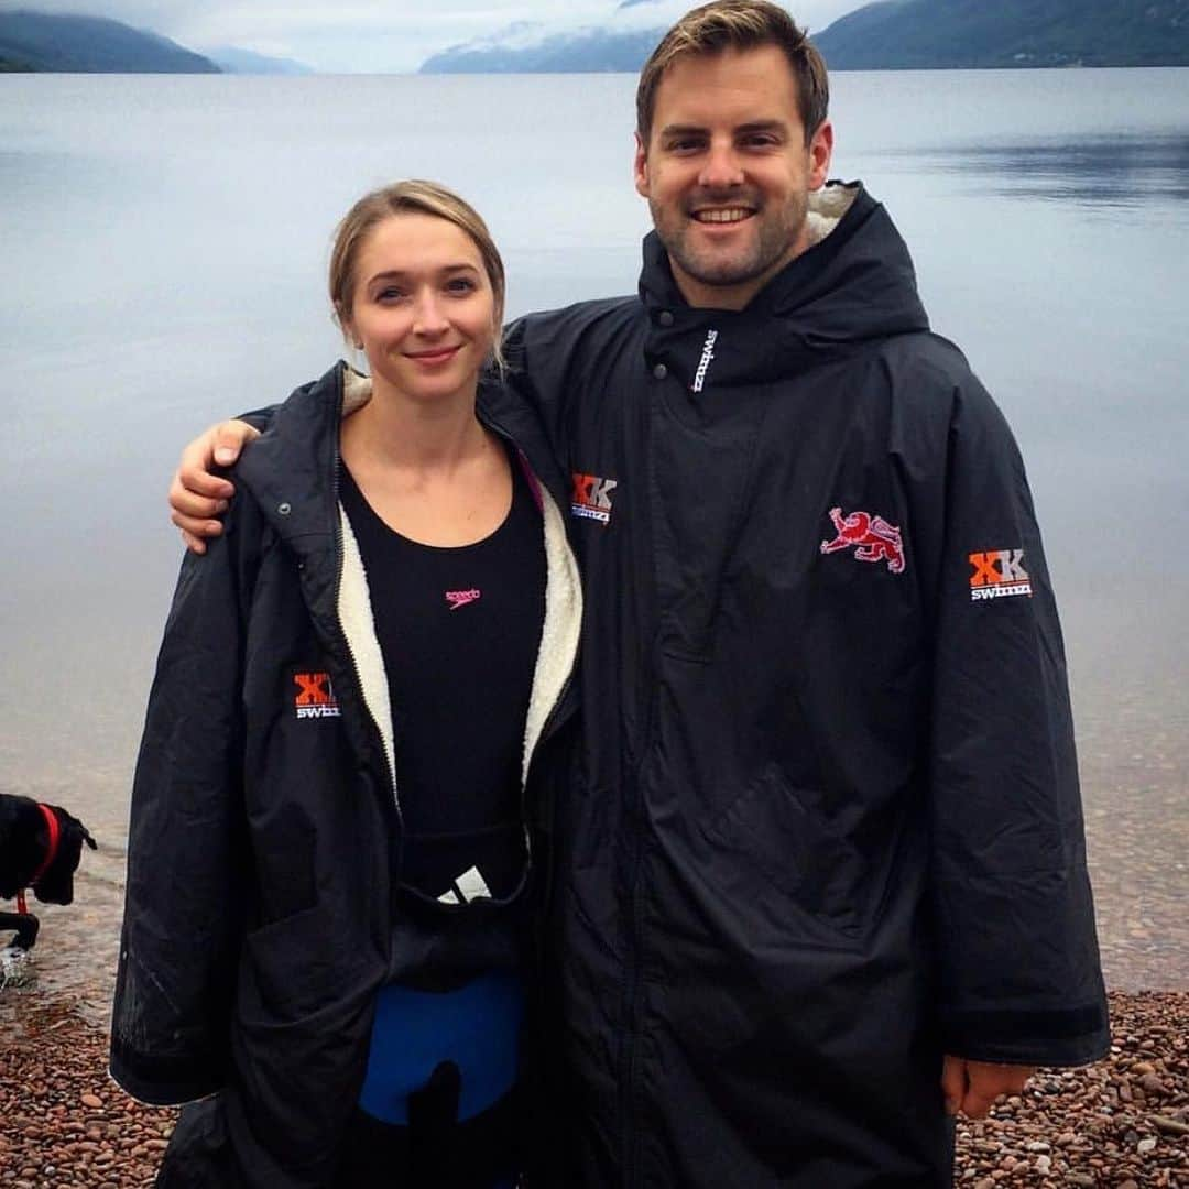
{"label": "reddish-brown pebble beach on both sides of the couple", "polygon": [[[1109,1002],[1107,1058],[1040,1070],[992,1118],[960,1121],[957,1185],[1189,1185],[1189,990]],[[111,1081],[107,1032],[71,996],[0,992],[0,1189],[149,1185],[175,1116]]]}

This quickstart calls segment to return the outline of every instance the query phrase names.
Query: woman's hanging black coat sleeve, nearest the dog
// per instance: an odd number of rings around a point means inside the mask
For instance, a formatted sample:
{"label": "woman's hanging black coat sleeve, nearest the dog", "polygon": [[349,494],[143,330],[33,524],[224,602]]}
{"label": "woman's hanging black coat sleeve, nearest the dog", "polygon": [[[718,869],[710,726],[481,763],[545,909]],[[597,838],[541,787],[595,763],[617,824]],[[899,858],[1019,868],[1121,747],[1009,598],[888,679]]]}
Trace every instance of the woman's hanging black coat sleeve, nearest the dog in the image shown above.
{"label": "woman's hanging black coat sleeve, nearest the dog", "polygon": [[187,554],[137,760],[111,1072],[176,1105],[219,1089],[243,933],[244,623],[254,562],[246,497]]}

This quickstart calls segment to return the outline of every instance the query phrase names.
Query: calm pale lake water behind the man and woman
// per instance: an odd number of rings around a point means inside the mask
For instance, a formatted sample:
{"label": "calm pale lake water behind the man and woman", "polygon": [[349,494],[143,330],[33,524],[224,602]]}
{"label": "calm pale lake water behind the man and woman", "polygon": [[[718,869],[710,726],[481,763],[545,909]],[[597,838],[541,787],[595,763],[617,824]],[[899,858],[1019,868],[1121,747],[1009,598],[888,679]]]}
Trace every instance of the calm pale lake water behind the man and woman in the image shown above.
{"label": "calm pale lake water behind the man and woman", "polygon": [[[0,77],[0,788],[101,841],[43,983],[103,1011],[127,789],[208,422],[320,375],[332,228],[439,178],[509,313],[635,288],[635,80]],[[1113,987],[1189,986],[1189,70],[838,74],[833,175],[913,250],[1028,463]]]}

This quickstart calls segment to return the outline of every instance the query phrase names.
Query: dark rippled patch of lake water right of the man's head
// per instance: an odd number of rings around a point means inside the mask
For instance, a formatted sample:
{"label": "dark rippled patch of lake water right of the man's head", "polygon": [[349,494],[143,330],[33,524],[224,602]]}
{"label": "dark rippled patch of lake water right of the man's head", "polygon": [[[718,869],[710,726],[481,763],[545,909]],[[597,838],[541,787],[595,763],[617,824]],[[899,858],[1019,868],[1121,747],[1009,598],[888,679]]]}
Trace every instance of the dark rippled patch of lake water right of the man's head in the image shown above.
{"label": "dark rippled patch of lake water right of the man's head", "polygon": [[913,156],[1004,197],[1111,207],[1189,200],[1189,137],[1179,134],[956,145]]}

